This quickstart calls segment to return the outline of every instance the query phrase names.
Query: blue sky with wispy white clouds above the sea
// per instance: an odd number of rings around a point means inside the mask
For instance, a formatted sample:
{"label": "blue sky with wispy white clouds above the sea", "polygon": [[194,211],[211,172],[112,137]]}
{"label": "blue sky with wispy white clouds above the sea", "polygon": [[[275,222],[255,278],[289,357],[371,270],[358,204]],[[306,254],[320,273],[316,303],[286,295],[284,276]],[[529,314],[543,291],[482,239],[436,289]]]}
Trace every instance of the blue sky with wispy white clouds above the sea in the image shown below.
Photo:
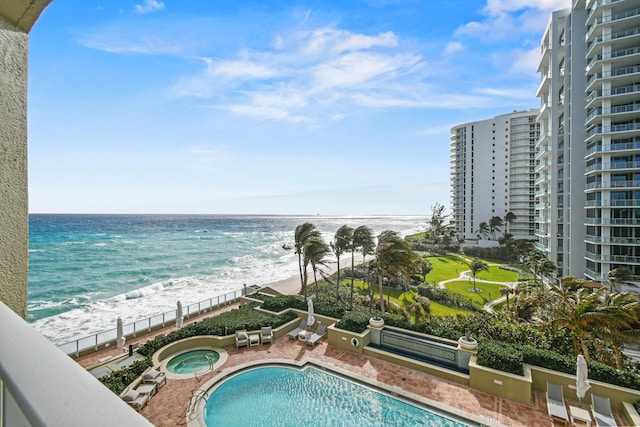
{"label": "blue sky with wispy white clouds above the sea", "polygon": [[53,0],[31,212],[426,215],[452,126],[537,108],[570,0]]}

